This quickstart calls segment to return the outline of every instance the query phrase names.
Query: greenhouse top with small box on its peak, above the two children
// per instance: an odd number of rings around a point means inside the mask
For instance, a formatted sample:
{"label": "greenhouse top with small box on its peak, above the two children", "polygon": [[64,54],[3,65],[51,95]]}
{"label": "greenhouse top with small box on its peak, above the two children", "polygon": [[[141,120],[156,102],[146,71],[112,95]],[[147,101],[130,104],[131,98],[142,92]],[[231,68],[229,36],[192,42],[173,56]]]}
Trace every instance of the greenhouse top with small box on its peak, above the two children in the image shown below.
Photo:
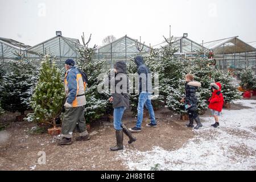
{"label": "greenhouse top with small box on its peak, above the two children", "polygon": [[[183,59],[190,59],[196,55],[201,54],[201,52],[208,50],[208,48],[201,46],[201,44],[196,43],[195,41],[188,39],[187,34],[184,34],[181,37],[173,37],[171,39],[171,45],[177,49],[175,55],[181,56]],[[170,38],[167,39],[170,42]],[[166,40],[162,43],[153,46],[154,48],[162,48],[168,46]]]}

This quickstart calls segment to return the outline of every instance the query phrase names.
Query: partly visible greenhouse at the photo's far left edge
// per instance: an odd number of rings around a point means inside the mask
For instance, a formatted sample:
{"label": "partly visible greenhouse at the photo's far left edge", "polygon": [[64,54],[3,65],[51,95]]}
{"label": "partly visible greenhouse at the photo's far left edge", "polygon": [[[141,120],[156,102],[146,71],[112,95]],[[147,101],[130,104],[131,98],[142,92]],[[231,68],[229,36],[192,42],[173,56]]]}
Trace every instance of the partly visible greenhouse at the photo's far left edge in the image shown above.
{"label": "partly visible greenhouse at the photo's far left edge", "polygon": [[30,48],[26,44],[20,43],[13,39],[0,38],[0,57],[1,60],[19,59],[17,53],[21,54]]}

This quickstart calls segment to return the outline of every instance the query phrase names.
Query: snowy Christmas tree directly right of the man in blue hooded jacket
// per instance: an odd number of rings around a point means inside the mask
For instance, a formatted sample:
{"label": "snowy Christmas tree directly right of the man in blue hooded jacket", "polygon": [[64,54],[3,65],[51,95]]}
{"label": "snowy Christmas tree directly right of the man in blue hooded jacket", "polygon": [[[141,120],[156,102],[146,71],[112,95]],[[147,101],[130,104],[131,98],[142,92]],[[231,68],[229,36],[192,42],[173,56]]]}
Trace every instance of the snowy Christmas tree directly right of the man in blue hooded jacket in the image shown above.
{"label": "snowy Christmas tree directly right of the man in blue hooded jacket", "polygon": [[158,100],[176,113],[185,113],[180,100],[184,95],[184,68],[187,63],[175,56],[175,52],[177,49],[171,44],[152,50],[150,56],[146,57],[146,64],[152,72],[159,74]]}

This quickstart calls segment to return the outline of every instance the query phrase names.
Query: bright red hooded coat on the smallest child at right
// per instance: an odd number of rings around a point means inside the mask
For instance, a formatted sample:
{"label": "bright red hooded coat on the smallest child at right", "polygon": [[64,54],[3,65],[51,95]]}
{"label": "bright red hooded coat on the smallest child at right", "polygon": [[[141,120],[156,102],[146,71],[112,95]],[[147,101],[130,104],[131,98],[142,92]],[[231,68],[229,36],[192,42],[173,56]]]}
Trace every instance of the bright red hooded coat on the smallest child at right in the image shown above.
{"label": "bright red hooded coat on the smallest child at right", "polygon": [[224,105],[224,98],[221,93],[221,84],[220,82],[216,82],[210,84],[210,86],[213,86],[216,90],[212,92],[212,97],[208,100],[210,102],[208,107],[209,109],[221,112]]}

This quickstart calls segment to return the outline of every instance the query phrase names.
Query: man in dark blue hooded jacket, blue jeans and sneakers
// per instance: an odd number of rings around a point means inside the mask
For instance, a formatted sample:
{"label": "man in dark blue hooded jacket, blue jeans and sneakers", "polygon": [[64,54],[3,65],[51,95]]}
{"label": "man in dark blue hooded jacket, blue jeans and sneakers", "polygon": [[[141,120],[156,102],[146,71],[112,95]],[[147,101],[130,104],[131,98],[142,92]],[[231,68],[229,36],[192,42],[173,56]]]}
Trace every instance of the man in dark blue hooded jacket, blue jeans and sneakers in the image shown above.
{"label": "man in dark blue hooded jacket, blue jeans and sneakers", "polygon": [[137,124],[132,129],[129,129],[131,132],[141,132],[141,125],[143,119],[143,109],[144,105],[150,114],[151,122],[147,124],[148,127],[156,127],[155,113],[153,106],[151,104],[151,94],[152,94],[152,82],[151,82],[151,73],[146,65],[143,63],[143,57],[135,57],[135,63],[137,64],[138,74],[139,74],[139,103],[138,103],[138,119]]}

